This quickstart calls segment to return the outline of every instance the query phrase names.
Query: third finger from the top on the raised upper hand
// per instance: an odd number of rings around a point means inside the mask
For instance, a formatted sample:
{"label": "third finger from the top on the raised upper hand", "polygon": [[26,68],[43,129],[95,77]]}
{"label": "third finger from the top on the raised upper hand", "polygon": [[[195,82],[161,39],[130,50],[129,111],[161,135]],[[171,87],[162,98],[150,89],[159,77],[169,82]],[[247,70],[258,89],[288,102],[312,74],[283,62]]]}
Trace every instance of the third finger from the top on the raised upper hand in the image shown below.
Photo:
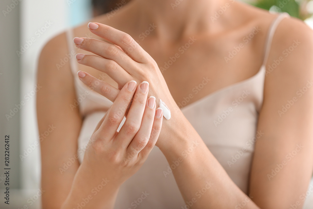
{"label": "third finger from the top on the raised upper hand", "polygon": [[131,75],[113,60],[108,60],[96,55],[84,54],[77,54],[76,59],[79,64],[90,66],[108,74],[120,86],[124,86],[128,81],[132,80]]}

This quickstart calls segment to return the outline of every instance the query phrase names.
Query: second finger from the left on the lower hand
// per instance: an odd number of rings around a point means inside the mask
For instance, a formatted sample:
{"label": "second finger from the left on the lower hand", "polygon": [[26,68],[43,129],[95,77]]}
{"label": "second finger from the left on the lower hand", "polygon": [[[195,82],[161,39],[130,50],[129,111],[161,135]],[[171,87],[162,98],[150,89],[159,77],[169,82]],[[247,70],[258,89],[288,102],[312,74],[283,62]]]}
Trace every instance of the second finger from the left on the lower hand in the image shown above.
{"label": "second finger from the left on the lower hand", "polygon": [[142,116],[146,107],[148,88],[149,83],[146,81],[138,85],[131,107],[127,113],[126,121],[115,138],[116,144],[123,146],[125,149],[131,143],[131,140],[141,126]]}

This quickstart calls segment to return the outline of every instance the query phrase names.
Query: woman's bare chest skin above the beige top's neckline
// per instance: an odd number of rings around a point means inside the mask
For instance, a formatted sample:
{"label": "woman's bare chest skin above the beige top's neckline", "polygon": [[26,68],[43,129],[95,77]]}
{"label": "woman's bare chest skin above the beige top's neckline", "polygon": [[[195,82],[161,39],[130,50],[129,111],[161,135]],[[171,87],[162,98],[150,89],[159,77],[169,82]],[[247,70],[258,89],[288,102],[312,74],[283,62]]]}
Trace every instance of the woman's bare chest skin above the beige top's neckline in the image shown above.
{"label": "woman's bare chest skin above the beige top's neckline", "polygon": [[236,44],[220,39],[190,38],[168,48],[160,48],[160,44],[153,43],[142,43],[141,46],[158,64],[178,104],[186,99],[188,103],[195,102],[259,71],[263,51],[246,45],[234,53],[232,46]]}

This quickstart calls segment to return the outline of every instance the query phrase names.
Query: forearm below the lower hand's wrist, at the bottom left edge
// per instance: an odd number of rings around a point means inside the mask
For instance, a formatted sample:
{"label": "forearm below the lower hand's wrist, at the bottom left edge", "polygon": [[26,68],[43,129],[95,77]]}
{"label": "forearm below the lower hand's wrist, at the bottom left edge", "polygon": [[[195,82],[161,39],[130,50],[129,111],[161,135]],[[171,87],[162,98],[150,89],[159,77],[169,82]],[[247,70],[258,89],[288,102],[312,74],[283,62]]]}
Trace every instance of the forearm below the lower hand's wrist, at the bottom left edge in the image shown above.
{"label": "forearm below the lower hand's wrist, at the bottom left edge", "polygon": [[115,204],[119,186],[103,176],[94,179],[92,171],[81,168],[75,175],[71,191],[61,209],[73,209],[81,206],[85,209],[112,209]]}

